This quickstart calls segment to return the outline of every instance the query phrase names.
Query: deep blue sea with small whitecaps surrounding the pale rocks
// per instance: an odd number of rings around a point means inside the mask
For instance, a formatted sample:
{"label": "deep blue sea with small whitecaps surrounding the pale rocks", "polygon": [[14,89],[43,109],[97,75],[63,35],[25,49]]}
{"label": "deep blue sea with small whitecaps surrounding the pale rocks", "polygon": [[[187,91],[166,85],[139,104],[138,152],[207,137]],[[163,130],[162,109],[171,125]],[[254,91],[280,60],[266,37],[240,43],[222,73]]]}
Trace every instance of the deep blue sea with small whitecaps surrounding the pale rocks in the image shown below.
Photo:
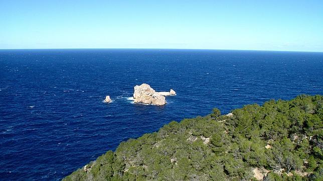
{"label": "deep blue sea with small whitecaps surrounding the pale rocks", "polygon": [[[177,95],[164,106],[134,104],[143,82]],[[172,120],[322,87],[318,52],[0,50],[0,180],[58,180]]]}

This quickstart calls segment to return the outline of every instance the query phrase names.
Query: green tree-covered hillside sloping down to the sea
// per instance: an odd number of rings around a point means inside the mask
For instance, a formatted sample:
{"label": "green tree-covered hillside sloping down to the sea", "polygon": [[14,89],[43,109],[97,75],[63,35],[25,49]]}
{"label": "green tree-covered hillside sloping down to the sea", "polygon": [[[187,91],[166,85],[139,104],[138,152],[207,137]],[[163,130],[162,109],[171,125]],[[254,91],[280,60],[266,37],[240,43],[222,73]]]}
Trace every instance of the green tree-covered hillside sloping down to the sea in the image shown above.
{"label": "green tree-covered hillside sloping down to the sea", "polygon": [[[172,121],[64,180],[323,180],[323,96]],[[255,169],[256,168],[256,169]],[[258,175],[258,179],[259,175]]]}

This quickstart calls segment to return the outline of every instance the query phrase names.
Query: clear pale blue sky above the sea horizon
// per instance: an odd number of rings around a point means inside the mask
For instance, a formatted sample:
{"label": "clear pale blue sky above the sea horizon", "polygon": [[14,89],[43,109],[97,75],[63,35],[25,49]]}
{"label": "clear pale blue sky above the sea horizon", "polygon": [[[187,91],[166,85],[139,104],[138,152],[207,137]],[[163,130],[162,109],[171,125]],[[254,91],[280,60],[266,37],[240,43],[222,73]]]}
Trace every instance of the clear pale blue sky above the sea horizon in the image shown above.
{"label": "clear pale blue sky above the sea horizon", "polygon": [[323,51],[323,0],[0,0],[0,48]]}

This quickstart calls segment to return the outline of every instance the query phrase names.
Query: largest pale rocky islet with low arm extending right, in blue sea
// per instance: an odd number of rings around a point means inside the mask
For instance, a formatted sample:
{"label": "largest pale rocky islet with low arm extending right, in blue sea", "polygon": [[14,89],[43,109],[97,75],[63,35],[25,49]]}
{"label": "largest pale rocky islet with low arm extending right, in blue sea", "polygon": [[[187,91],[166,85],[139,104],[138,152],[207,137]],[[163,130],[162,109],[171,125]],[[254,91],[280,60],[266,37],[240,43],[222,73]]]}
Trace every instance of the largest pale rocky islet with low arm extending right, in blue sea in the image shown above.
{"label": "largest pale rocky islet with low arm extending right, in blue sea", "polygon": [[142,83],[134,86],[133,98],[134,103],[147,103],[155,105],[166,104],[166,95],[175,95],[176,92],[171,89],[170,92],[156,92],[150,85]]}

